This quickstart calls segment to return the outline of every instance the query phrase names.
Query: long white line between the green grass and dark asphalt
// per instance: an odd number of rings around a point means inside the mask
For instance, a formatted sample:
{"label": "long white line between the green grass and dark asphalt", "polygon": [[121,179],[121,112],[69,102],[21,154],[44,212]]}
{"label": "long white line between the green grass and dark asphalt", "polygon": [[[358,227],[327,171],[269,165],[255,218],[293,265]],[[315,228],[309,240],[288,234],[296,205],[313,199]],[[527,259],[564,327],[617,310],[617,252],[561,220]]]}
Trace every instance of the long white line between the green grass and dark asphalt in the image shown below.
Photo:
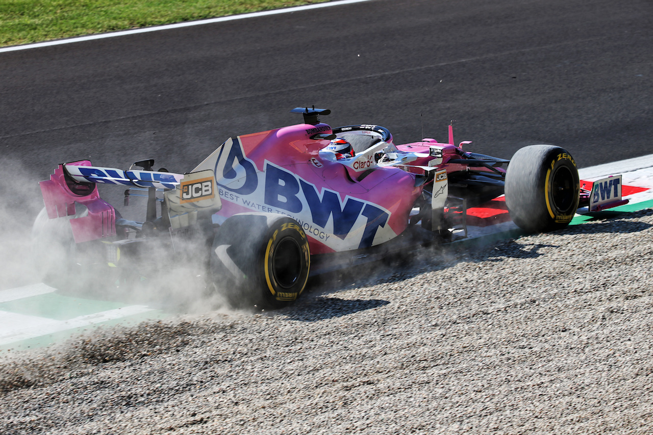
{"label": "long white line between the green grass and dark asphalt", "polygon": [[18,50],[30,50],[31,48],[50,47],[50,46],[62,45],[62,44],[72,44],[72,42],[83,42],[87,40],[115,38],[115,37],[121,37],[126,35],[136,35],[138,33],[150,33],[150,32],[162,31],[162,30],[180,29],[182,27],[193,27],[195,25],[215,24],[215,23],[222,23],[222,22],[234,21],[234,20],[246,20],[247,18],[256,18],[260,16],[289,14],[291,12],[299,12],[301,10],[311,10],[311,9],[319,9],[319,8],[328,8],[332,6],[350,5],[351,3],[364,3],[366,1],[373,1],[373,0],[330,1],[327,3],[317,3],[314,5],[296,6],[291,8],[274,9],[274,10],[264,10],[261,12],[251,12],[250,14],[221,16],[218,18],[209,18],[208,20],[187,21],[183,23],[156,25],[153,27],[142,27],[140,29],[130,29],[130,30],[123,30],[123,31],[111,32],[111,33],[100,33],[98,35],[88,35],[88,36],[74,37],[69,39],[50,40],[47,42],[37,42],[36,44],[25,44],[25,45],[16,45],[16,46],[0,48],[0,53],[15,52]]}

